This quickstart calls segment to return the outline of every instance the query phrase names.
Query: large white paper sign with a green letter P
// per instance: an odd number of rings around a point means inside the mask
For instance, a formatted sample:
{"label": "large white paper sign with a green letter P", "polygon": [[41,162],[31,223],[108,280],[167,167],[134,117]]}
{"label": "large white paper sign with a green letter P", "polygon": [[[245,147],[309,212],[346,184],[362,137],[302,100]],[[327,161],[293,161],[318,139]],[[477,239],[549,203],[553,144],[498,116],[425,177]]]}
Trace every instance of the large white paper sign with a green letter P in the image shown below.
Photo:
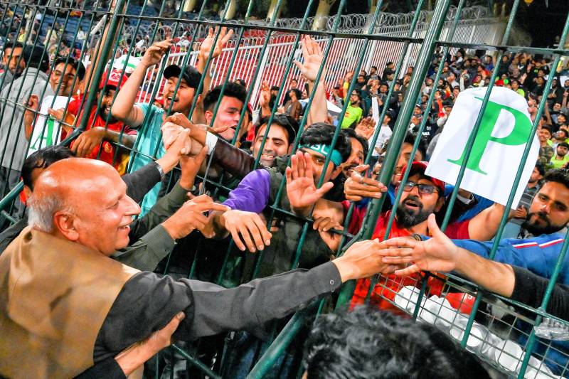
{"label": "large white paper sign with a green letter P", "polygon": [[[457,182],[467,141],[485,93],[486,88],[460,92],[433,151],[427,175],[450,184]],[[494,87],[460,187],[506,205],[530,132],[531,119],[526,100],[506,87]],[[520,201],[538,154],[538,139],[533,138],[513,208]]]}

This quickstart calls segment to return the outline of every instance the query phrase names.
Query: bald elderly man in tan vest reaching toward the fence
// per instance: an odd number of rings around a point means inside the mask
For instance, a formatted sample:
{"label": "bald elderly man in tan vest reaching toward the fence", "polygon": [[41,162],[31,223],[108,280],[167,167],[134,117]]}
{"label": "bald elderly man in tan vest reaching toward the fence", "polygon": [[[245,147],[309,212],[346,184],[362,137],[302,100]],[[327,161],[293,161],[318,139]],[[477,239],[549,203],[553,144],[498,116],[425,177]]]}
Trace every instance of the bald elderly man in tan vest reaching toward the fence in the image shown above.
{"label": "bald elderly man in tan vest reaching toward the fence", "polygon": [[[194,208],[195,225],[206,223],[206,210],[225,209],[209,198],[183,206]],[[0,257],[0,375],[9,378],[77,375],[146,338],[179,311],[186,317],[174,339],[239,329],[258,335],[260,324],[346,280],[395,269],[381,262],[379,242],[364,241],[309,271],[233,289],[139,272],[109,256],[128,244],[128,225],[140,208],[117,171],[91,159],[51,165],[36,181],[29,208],[30,226]],[[166,230],[171,226],[164,223]]]}

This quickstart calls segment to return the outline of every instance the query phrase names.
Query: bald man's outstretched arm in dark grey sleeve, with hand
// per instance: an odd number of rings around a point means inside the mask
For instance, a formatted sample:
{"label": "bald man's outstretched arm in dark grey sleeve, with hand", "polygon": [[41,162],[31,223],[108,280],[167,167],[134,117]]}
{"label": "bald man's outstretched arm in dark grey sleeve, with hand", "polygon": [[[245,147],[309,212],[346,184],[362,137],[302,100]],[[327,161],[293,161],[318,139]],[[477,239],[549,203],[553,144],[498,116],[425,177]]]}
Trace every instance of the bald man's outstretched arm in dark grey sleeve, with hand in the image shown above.
{"label": "bald man's outstretched arm in dark grey sleeve, with hand", "polygon": [[[309,271],[255,279],[225,289],[216,284],[140,272],[124,284],[112,304],[95,342],[95,361],[108,350],[120,351],[166,325],[184,311],[174,338],[190,340],[228,330],[250,330],[335,292],[342,282],[393,272],[381,262],[378,240],[356,242],[344,255]],[[137,299],[133,307],[132,299]],[[124,317],[128,314],[128,317]]]}

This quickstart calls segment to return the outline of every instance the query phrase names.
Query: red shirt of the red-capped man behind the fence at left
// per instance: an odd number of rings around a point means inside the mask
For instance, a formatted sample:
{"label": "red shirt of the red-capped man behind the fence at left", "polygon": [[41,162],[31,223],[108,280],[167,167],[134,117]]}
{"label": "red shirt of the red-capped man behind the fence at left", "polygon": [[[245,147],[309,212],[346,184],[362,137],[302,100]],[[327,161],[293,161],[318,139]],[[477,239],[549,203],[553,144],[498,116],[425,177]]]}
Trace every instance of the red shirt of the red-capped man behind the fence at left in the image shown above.
{"label": "red shirt of the red-capped man behind the fence at left", "polygon": [[[70,114],[73,114],[75,117],[78,114],[80,114],[80,117],[83,117],[83,114],[85,112],[84,112],[84,110],[80,110],[80,107],[84,107],[84,105],[85,105],[85,103],[83,102],[83,96],[84,95],[73,96],[73,100],[71,100],[69,102],[69,105],[67,107],[67,112],[69,112]],[[83,104],[82,104],[82,102],[83,102]],[[85,130],[89,130],[92,127],[105,127],[105,124],[107,124],[105,119],[102,119],[100,114],[97,114],[96,118],[95,118],[96,113],[97,113],[97,106],[93,106],[92,110],[89,114],[89,122],[87,122],[87,127]],[[95,118],[95,122],[93,122],[93,118]],[[107,128],[109,130],[112,130],[113,132],[120,132],[122,130],[123,125],[124,124],[122,122],[117,121],[117,122],[109,123],[107,125]],[[124,132],[123,133],[129,134],[129,135],[136,135],[137,131],[134,129],[130,129],[129,127],[124,125]],[[62,138],[65,138],[63,133],[62,133]],[[75,141],[72,142],[71,146],[73,146],[74,143],[75,143]],[[87,158],[97,159],[97,156],[99,156],[99,148],[100,148],[100,146],[95,146],[92,149],[91,154],[87,155]],[[112,144],[110,144],[110,142],[107,142],[107,141],[104,141],[102,143],[102,151],[101,151],[101,154],[99,156],[99,159],[101,161],[105,161],[108,164],[113,165],[115,167],[115,169],[117,169],[119,164],[121,163],[120,156],[117,156],[117,159],[115,159],[115,147],[112,146]],[[115,161],[114,164],[113,164],[113,160]]]}

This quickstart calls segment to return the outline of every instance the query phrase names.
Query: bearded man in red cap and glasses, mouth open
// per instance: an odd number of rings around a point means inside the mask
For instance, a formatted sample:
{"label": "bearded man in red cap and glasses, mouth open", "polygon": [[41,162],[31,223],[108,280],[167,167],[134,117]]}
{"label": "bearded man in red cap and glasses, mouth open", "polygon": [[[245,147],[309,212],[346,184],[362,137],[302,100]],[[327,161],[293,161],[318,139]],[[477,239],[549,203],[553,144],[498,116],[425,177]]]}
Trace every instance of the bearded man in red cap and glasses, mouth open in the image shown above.
{"label": "bearded man in red cap and glasses, mouth open", "polygon": [[[405,169],[406,167],[403,167],[401,173],[404,173]],[[395,211],[393,225],[385,239],[405,237],[413,235],[413,233],[420,235],[430,234],[427,228],[427,218],[433,213],[439,213],[443,205],[445,205],[445,182],[425,175],[426,169],[427,162],[413,162],[405,184],[399,182],[395,188],[395,193],[397,193],[400,186],[403,186],[403,193]],[[349,206],[349,203],[344,204],[345,208],[347,206]],[[354,208],[349,225],[350,233],[357,233],[361,228],[365,214],[365,210],[361,212],[361,208]],[[445,234],[451,238],[489,240],[496,234],[503,214],[503,205],[491,205],[474,216],[474,218],[451,223],[445,230]],[[373,231],[372,239],[383,239],[390,215],[391,210],[380,215],[376,223],[376,229]],[[377,303],[381,308],[393,308],[390,301],[385,299],[393,301],[398,288],[406,285],[415,285],[417,282],[417,276],[398,278],[395,275],[390,275],[387,283],[376,287],[371,296],[371,301]],[[353,303],[363,303],[363,300],[366,299],[369,285],[369,279],[358,281],[356,291],[353,294]]]}

